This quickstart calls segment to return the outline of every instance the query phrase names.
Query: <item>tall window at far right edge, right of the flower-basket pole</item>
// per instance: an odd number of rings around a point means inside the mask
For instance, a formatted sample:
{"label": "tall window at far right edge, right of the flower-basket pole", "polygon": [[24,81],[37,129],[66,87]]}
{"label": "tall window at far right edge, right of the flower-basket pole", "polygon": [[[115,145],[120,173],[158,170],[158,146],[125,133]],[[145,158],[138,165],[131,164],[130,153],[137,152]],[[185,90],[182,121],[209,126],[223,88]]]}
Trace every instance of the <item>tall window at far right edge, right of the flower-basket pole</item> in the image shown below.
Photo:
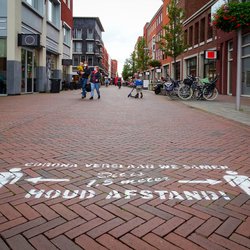
{"label": "tall window at far right edge, right of the flower-basket pole", "polygon": [[250,34],[242,38],[242,95],[250,95]]}

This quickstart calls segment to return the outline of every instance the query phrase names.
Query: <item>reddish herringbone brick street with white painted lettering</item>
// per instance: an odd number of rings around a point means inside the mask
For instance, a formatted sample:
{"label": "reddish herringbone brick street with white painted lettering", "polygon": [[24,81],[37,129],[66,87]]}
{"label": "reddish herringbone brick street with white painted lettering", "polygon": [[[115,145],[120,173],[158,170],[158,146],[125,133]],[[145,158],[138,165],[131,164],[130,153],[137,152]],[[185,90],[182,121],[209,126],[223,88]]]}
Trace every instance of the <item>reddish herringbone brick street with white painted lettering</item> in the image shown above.
{"label": "reddish herringbone brick street with white painted lettering", "polygon": [[129,91],[0,98],[1,250],[250,249],[250,127]]}

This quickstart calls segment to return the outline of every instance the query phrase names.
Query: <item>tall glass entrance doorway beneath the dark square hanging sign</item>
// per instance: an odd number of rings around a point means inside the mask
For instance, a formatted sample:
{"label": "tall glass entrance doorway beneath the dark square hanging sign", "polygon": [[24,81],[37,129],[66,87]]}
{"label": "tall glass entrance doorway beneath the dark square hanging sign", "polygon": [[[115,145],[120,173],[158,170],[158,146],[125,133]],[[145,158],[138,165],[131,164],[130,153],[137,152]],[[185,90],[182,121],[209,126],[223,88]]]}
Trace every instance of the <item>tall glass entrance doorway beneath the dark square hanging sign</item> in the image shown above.
{"label": "tall glass entrance doorway beneath the dark square hanging sign", "polygon": [[35,89],[35,52],[22,49],[22,93],[33,93]]}

